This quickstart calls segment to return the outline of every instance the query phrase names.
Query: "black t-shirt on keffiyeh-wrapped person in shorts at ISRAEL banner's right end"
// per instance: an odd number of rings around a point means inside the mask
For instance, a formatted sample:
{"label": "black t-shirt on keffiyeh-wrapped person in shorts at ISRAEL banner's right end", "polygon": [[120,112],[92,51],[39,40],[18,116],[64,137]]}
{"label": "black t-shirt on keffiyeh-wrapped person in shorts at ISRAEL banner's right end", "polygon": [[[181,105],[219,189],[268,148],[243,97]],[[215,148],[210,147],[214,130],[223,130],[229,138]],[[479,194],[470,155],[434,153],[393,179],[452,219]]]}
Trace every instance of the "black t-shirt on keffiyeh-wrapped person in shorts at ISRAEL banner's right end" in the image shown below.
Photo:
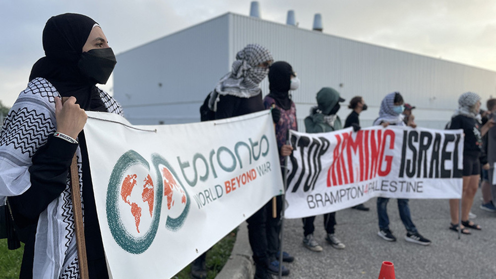
{"label": "black t-shirt on keffiyeh-wrapped person in shorts at ISRAEL banner's right end", "polygon": [[465,140],[463,142],[463,154],[480,155],[482,149],[481,125],[472,117],[457,115],[451,118],[449,130],[463,129]]}

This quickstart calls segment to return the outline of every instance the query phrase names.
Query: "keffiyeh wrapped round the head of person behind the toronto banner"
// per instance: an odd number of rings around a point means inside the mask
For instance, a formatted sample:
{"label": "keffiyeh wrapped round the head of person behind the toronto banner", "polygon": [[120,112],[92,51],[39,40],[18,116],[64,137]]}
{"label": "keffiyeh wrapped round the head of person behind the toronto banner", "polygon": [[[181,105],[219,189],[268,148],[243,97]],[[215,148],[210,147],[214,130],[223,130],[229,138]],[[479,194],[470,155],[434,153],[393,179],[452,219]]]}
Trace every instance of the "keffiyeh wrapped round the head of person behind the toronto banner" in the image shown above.
{"label": "keffiyeh wrapped round the head of person behind the toronto banner", "polygon": [[265,47],[249,44],[236,55],[232,70],[224,75],[210,95],[209,107],[216,111],[215,101],[220,95],[233,95],[250,98],[260,94],[258,84],[267,76],[269,69],[257,67],[264,62],[272,62],[272,54]]}

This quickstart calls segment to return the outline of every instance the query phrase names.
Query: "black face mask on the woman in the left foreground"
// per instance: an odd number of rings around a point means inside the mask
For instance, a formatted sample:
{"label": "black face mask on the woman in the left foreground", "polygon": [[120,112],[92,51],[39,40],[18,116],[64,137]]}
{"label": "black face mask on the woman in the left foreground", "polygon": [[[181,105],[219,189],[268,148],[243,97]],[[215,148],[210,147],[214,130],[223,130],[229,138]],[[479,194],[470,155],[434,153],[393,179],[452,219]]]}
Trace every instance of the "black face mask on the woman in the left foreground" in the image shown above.
{"label": "black face mask on the woman in the left foreground", "polygon": [[96,83],[105,84],[116,66],[116,56],[111,48],[83,52],[77,67]]}

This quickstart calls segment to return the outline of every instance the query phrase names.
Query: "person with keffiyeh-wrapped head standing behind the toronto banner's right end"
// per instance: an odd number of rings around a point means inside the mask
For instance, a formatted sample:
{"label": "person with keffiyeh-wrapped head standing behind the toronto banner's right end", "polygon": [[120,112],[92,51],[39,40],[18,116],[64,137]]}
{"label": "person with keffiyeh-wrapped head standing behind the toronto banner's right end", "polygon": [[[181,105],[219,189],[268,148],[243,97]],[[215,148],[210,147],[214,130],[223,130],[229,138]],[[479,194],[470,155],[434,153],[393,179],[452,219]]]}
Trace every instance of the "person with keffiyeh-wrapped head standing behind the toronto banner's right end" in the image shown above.
{"label": "person with keffiyeh-wrapped head standing behind the toronto banner's right end", "polygon": [[[208,107],[215,113],[215,119],[241,116],[264,110],[262,90],[258,84],[267,76],[274,59],[263,46],[249,44],[236,55],[232,70],[217,83],[210,93]],[[273,110],[274,123],[279,121],[280,112]],[[256,265],[255,278],[271,278],[266,236],[267,215],[262,207],[248,219],[248,239]],[[203,259],[202,259],[203,258]],[[193,262],[193,277],[203,276],[204,255]],[[198,272],[193,272],[193,269]],[[198,276],[196,276],[198,275]]]}

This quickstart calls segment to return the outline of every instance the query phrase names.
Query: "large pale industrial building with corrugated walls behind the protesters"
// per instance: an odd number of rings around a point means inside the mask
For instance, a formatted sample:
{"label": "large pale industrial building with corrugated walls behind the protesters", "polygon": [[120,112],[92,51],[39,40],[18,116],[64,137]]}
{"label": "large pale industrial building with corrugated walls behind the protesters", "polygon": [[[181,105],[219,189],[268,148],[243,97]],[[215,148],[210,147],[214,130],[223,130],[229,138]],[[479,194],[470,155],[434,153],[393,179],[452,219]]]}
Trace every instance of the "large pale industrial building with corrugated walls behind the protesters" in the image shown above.
{"label": "large pale industrial building with corrugated walls behind the protesters", "polygon": [[[315,93],[333,87],[349,101],[361,95],[369,110],[362,127],[377,118],[382,98],[399,91],[419,126],[442,129],[457,108],[458,96],[496,95],[496,72],[340,38],[294,25],[226,13],[117,55],[114,94],[125,117],[136,125],[199,121],[207,93],[231,69],[249,43],[267,47],[275,61],[287,61],[301,86],[293,92],[300,131],[315,105]],[[261,83],[268,94],[268,80]],[[348,102],[339,115],[344,124]]]}

